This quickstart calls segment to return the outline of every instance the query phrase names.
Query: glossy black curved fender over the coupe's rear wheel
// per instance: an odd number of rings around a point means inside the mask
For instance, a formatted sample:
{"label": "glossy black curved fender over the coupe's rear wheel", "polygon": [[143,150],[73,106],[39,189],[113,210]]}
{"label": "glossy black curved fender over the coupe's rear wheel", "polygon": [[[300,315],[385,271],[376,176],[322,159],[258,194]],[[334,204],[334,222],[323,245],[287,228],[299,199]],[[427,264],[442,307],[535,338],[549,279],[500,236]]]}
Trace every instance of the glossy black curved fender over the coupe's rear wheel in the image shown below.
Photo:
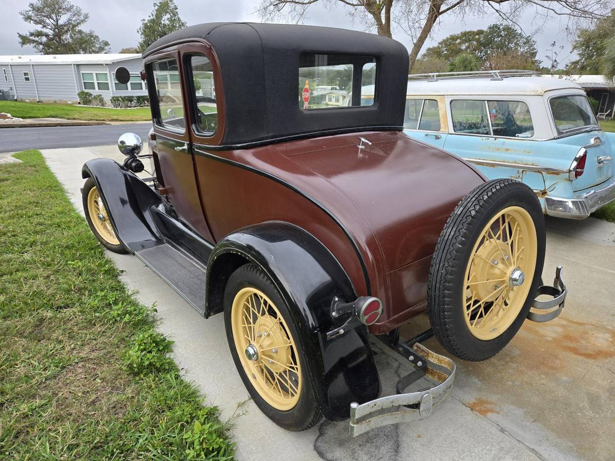
{"label": "glossy black curved fender over the coupe's rear wheel", "polygon": [[351,402],[376,398],[380,382],[367,327],[359,325],[327,339],[327,331],[339,326],[331,317],[333,299],[354,301],[358,297],[330,251],[305,230],[277,221],[227,235],[207,264],[205,317],[222,307],[223,284],[212,281],[220,280],[221,272],[229,272],[242,261],[258,264],[287,303],[300,331],[299,341],[323,415],[345,419]]}

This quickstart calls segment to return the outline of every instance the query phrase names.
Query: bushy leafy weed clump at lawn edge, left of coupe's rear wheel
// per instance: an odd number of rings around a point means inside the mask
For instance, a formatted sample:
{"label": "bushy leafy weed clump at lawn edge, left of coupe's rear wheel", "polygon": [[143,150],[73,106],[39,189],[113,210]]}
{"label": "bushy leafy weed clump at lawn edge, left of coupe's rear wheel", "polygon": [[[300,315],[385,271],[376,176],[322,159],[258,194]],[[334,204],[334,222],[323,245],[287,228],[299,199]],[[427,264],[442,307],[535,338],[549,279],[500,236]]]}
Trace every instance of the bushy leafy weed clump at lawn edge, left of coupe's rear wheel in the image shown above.
{"label": "bushy leafy weed clump at lawn edge, left of coupe's rear wheel", "polygon": [[167,354],[171,352],[173,341],[162,336],[153,328],[148,328],[135,337],[135,344],[124,357],[124,364],[135,374],[169,371],[175,363]]}

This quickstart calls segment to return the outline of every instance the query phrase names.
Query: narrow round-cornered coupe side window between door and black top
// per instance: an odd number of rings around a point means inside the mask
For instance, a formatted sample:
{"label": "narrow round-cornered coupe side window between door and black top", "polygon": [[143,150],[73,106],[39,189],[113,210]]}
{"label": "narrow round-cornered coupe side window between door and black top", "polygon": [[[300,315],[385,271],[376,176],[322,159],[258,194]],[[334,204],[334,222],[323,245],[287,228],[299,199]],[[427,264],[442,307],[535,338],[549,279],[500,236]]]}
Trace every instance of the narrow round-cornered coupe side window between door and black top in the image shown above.
{"label": "narrow round-cornered coupe side window between door and black top", "polygon": [[204,56],[190,57],[192,71],[192,95],[196,106],[197,130],[213,135],[218,128],[216,113],[216,89],[213,84],[212,63]]}

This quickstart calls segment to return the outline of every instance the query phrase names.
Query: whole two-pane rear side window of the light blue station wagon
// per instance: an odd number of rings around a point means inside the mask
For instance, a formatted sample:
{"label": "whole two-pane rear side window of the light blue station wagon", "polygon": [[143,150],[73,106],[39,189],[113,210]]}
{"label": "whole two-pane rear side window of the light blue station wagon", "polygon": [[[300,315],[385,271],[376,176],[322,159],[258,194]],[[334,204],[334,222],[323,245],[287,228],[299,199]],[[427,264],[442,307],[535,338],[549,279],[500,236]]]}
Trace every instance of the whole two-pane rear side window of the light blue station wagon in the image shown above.
{"label": "whole two-pane rear side window of the light blue station wagon", "polygon": [[451,101],[455,133],[531,138],[534,124],[528,104],[522,101]]}

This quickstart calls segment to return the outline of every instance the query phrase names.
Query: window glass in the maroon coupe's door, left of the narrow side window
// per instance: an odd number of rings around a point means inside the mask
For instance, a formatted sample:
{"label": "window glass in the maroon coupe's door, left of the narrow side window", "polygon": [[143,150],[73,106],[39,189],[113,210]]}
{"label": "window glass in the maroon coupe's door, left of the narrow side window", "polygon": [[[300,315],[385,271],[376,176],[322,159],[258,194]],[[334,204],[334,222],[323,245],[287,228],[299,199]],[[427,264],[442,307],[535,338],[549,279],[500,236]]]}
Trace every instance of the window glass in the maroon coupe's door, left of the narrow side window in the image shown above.
{"label": "window glass in the maroon coupe's door, left of the narrow side window", "polygon": [[181,97],[180,73],[175,59],[157,61],[151,65],[160,109],[160,124],[184,131],[184,105]]}

